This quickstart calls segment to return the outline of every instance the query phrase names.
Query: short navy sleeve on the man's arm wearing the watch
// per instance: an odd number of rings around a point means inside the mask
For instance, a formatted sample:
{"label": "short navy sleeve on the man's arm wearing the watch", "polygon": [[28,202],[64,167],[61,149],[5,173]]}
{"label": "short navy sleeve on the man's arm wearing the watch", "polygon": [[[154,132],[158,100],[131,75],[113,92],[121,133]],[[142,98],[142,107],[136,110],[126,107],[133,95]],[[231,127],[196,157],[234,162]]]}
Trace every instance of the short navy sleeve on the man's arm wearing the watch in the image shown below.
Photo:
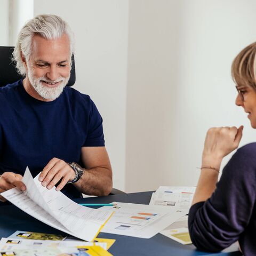
{"label": "short navy sleeve on the man's arm wearing the watch", "polygon": [[105,146],[105,140],[103,135],[102,117],[91,99],[90,105],[88,134],[83,147],[103,147]]}

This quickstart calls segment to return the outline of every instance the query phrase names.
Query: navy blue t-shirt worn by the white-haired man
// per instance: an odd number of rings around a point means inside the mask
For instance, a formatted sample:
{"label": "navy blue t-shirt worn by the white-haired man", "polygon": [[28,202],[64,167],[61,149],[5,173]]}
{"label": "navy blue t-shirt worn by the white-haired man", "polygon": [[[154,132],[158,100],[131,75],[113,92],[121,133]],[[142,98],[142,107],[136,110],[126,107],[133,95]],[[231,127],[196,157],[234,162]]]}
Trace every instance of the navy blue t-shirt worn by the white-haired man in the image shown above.
{"label": "navy blue t-shirt worn by the white-haired man", "polygon": [[[102,118],[88,95],[65,87],[59,98],[45,102],[31,97],[22,80],[0,88],[0,173],[33,177],[57,157],[81,165],[81,148],[105,146]],[[81,193],[71,184],[70,198]]]}

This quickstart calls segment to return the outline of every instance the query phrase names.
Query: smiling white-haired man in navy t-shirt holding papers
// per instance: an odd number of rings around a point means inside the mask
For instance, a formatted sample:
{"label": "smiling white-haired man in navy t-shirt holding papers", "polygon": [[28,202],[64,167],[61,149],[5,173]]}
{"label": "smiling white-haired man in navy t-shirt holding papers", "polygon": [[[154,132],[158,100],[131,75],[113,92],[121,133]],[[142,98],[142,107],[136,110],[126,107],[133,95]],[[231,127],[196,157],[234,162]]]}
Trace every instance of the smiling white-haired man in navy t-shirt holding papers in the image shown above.
{"label": "smiling white-haired man in navy t-shirt holding papers", "polygon": [[73,34],[56,15],[21,29],[13,59],[25,78],[0,89],[0,193],[26,190],[26,166],[70,198],[110,193],[102,118],[88,95],[66,87],[73,50]]}

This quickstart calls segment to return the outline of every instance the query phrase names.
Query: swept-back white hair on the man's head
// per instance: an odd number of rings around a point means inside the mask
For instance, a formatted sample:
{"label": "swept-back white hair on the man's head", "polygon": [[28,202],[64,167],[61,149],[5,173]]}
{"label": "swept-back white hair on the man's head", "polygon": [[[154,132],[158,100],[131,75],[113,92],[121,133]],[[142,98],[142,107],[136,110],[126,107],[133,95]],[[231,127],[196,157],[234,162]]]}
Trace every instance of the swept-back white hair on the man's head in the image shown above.
{"label": "swept-back white hair on the man's head", "polygon": [[22,76],[26,76],[26,68],[22,62],[22,56],[28,62],[32,49],[32,39],[34,35],[39,35],[45,39],[58,39],[66,34],[70,43],[70,67],[71,55],[74,53],[74,35],[68,23],[63,21],[59,16],[53,14],[40,14],[29,20],[22,27],[18,35],[12,59],[16,62],[16,68]]}

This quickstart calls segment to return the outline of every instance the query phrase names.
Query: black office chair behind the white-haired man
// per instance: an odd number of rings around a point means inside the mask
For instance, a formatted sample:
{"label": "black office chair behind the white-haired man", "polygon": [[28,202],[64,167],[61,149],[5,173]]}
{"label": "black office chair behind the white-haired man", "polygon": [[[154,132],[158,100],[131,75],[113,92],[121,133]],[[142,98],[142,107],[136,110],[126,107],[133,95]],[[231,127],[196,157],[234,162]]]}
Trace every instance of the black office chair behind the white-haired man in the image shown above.
{"label": "black office chair behind the white-haired man", "polygon": [[[14,83],[22,78],[12,62],[13,47],[0,46],[0,87]],[[72,68],[67,86],[72,86],[76,82],[75,59],[72,55]],[[125,194],[123,191],[113,188],[109,195]]]}

